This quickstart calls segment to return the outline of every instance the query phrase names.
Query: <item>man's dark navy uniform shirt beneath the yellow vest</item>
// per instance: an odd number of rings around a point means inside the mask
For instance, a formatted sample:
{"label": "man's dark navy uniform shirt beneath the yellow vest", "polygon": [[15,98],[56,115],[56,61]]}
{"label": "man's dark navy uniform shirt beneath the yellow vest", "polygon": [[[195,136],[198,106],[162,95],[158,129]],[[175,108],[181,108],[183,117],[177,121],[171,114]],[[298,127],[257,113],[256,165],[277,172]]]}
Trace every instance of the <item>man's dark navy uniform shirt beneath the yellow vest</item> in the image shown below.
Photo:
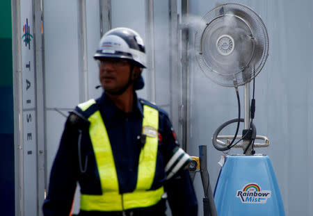
{"label": "man's dark navy uniform shirt beneath the yellow vest", "polygon": [[[166,181],[164,167],[172,156],[172,150],[177,147],[166,112],[152,103],[137,99],[136,94],[131,113],[124,113],[117,108],[106,94],[102,94],[96,102],[84,112],[78,107],[75,111],[85,119],[88,119],[95,109],[100,111],[111,142],[120,194],[132,192],[136,188],[138,158],[143,145],[138,138],[141,138],[143,104],[147,104],[159,110],[157,167],[151,189],[164,186],[172,215],[197,215],[197,201],[188,171],[182,170],[175,178]],[[79,131],[82,133],[80,145]],[[85,166],[86,172],[83,170]],[[61,144],[51,169],[49,193],[43,206],[45,215],[68,215],[77,181],[81,193],[102,194],[95,154],[88,133],[88,122],[72,114],[65,123]]]}

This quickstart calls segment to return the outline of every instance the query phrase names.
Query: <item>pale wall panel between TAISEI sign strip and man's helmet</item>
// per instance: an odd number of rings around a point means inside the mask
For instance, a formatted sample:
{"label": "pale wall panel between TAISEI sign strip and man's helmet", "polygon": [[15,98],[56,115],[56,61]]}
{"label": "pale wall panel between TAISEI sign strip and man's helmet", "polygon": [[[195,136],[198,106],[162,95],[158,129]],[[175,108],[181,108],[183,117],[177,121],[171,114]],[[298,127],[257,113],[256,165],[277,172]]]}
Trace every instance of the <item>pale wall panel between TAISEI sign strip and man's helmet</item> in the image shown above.
{"label": "pale wall panel between TAISEI sign strip and man's helmet", "polygon": [[44,2],[47,108],[73,108],[79,103],[78,13],[74,0]]}

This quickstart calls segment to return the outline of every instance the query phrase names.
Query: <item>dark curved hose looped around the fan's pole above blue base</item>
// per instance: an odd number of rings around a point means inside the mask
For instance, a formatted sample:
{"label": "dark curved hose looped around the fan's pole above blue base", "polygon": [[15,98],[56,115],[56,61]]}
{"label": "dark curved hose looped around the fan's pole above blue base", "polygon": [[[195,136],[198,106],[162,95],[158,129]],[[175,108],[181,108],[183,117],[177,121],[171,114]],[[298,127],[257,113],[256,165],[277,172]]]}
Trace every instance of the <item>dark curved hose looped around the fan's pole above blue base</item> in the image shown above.
{"label": "dark curved hose looped around the fan's pole above blue base", "polygon": [[[229,124],[232,124],[234,122],[245,122],[244,119],[231,119],[227,122],[224,122],[223,124],[221,124],[217,129],[216,131],[214,132],[213,134],[213,138],[212,138],[212,144],[214,146],[214,148],[216,148],[218,151],[227,151],[229,149],[231,149],[232,147],[234,147],[234,145],[232,145],[232,143],[234,142],[234,140],[236,140],[236,134],[234,135],[234,138],[232,140],[232,142],[230,144],[227,145],[227,147],[223,147],[221,146],[220,144],[218,144],[217,142],[217,137],[218,137],[218,133],[220,133],[220,131],[223,130],[223,128],[225,128],[225,126],[229,125]],[[257,134],[257,129],[255,128],[255,124],[253,124],[253,122],[251,122],[250,124],[250,128],[252,128],[252,139],[255,138],[256,134]],[[238,129],[238,127],[237,127]],[[245,135],[243,135],[243,138],[247,135],[248,133],[246,133]],[[242,138],[242,139],[243,139]]]}

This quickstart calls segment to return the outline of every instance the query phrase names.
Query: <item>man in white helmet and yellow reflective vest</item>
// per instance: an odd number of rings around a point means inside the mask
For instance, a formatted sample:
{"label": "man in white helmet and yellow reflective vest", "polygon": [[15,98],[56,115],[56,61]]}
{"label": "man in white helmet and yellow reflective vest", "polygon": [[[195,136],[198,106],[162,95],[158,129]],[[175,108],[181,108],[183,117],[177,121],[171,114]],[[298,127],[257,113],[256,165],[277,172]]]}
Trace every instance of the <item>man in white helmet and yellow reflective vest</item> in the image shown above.
{"label": "man in white helmet and yellow reflective vest", "polygon": [[136,31],[114,28],[95,53],[99,99],[79,104],[65,123],[43,205],[47,215],[69,215],[77,182],[79,215],[195,216],[198,203],[168,115],[139,99],[146,67]]}

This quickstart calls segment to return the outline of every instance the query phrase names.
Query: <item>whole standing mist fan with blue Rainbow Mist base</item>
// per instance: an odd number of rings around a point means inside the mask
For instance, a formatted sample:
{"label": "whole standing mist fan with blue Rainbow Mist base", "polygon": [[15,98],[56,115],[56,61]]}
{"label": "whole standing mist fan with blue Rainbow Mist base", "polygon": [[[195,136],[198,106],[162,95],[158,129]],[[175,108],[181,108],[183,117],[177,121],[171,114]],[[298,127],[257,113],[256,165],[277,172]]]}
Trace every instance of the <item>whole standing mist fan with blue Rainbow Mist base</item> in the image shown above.
{"label": "whole standing mist fan with blue Rainbow Mist base", "polygon": [[[256,135],[252,123],[255,110],[254,85],[250,106],[250,81],[255,83],[255,76],[262,70],[268,57],[266,27],[257,13],[238,3],[220,5],[209,11],[203,20],[206,25],[195,33],[195,57],[200,69],[211,81],[236,89],[239,107],[238,118],[219,126],[212,142],[219,151],[232,147],[243,148],[242,155],[225,157],[214,192],[213,203],[217,215],[284,216],[284,206],[271,160],[268,156],[255,154],[253,149],[268,146],[268,139]],[[240,117],[240,85],[244,85],[244,119]],[[244,122],[245,129],[242,135],[237,135],[240,122]],[[225,126],[232,123],[237,123],[234,135],[218,135]],[[257,144],[256,139],[264,140],[264,143]],[[239,143],[241,140],[243,142]],[[216,214],[211,211],[211,215]]]}

